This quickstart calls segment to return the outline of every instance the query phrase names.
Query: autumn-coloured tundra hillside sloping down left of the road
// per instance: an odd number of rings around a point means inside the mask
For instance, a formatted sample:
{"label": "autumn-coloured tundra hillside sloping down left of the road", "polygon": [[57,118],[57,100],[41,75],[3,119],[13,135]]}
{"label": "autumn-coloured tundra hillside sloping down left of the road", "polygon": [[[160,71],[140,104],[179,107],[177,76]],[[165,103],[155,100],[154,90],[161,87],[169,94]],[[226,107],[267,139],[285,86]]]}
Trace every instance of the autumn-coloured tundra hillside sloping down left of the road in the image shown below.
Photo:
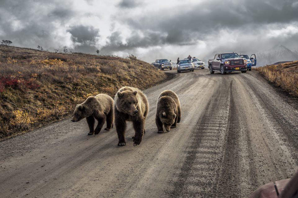
{"label": "autumn-coloured tundra hillside sloping down left of the road", "polygon": [[166,75],[134,56],[57,54],[0,45],[0,139],[69,116],[88,96],[148,88]]}

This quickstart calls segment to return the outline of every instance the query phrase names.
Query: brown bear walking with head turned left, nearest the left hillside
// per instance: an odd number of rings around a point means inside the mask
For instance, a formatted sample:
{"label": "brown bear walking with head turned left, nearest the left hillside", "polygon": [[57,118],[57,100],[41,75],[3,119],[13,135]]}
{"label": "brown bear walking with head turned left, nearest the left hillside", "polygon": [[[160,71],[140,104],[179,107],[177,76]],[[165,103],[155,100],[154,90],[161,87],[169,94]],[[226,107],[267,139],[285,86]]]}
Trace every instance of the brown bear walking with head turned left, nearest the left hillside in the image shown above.
{"label": "brown bear walking with head turned left, nearest the left hillside", "polygon": [[[109,131],[113,128],[114,122],[113,105],[113,98],[106,94],[101,93],[95,97],[89,96],[86,101],[75,107],[74,116],[71,121],[78,122],[81,119],[86,118],[90,129],[88,135],[97,135],[105,122],[105,130]],[[98,124],[94,130],[95,119],[97,119]]]}

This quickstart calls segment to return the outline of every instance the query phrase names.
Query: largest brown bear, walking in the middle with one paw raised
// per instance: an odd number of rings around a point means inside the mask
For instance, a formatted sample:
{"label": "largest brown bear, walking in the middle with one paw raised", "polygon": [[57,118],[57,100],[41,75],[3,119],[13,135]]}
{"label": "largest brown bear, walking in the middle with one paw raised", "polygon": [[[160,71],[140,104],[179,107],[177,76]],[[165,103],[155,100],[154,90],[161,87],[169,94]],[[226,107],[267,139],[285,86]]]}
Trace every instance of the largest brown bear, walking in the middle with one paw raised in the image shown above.
{"label": "largest brown bear, walking in the middle with one paw raised", "polygon": [[126,121],[133,122],[135,135],[133,146],[141,143],[145,133],[145,121],[148,114],[149,103],[147,97],[133,87],[122,87],[115,95],[115,126],[118,134],[118,146],[125,146]]}

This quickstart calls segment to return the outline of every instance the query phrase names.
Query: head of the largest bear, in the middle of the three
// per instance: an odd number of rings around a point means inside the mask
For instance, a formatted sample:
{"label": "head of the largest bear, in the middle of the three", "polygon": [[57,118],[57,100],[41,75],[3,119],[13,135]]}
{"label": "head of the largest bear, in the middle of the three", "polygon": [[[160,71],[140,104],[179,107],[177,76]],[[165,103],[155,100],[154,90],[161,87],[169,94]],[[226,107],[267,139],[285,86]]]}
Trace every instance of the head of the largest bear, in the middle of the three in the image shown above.
{"label": "head of the largest bear, in the middle of the three", "polygon": [[123,113],[135,116],[138,114],[138,91],[123,91],[117,92],[118,101],[116,103],[117,109]]}

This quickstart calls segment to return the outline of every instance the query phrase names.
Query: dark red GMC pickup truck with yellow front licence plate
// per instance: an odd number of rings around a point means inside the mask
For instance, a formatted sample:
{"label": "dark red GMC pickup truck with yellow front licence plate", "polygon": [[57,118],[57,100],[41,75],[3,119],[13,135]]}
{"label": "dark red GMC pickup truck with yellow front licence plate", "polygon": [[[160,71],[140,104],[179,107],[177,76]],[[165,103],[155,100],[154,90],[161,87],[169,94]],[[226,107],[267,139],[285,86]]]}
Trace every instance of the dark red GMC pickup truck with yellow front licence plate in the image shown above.
{"label": "dark red GMC pickup truck with yellow front licence plate", "polygon": [[214,59],[208,60],[208,68],[210,74],[214,74],[214,71],[220,71],[221,74],[232,71],[246,73],[247,60],[235,52],[215,54]]}

